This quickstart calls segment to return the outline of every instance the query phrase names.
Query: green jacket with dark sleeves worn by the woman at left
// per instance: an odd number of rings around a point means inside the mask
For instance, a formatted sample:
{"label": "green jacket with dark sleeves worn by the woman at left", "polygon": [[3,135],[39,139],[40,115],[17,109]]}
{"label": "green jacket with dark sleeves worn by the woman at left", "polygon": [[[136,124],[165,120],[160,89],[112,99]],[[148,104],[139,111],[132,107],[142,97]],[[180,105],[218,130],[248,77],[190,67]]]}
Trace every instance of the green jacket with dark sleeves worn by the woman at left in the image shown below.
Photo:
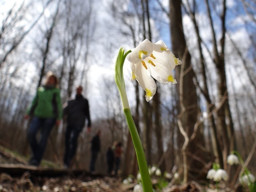
{"label": "green jacket with dark sleeves worn by the woman at left", "polygon": [[55,87],[39,87],[27,115],[39,118],[62,118],[60,89]]}

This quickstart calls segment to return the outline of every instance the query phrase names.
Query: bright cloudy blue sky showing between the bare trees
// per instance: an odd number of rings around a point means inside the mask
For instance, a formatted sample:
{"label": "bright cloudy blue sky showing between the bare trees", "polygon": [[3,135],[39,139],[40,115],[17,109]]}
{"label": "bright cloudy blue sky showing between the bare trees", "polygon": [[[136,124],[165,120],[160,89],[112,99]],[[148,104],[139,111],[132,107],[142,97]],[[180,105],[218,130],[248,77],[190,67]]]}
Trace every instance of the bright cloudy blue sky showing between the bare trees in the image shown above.
{"label": "bright cloudy blue sky showing between the bare trees", "polygon": [[[4,2],[4,5],[3,5]],[[2,10],[8,10],[8,7],[10,7],[14,2],[20,3],[21,1],[14,1],[14,0],[8,0],[8,1],[1,1],[1,7],[4,7]],[[25,1],[27,2],[27,1]],[[86,97],[90,98],[89,102],[92,108],[92,119],[96,119],[98,116],[101,116],[100,112],[102,111],[100,106],[104,105],[106,94],[109,94],[107,90],[104,90],[104,81],[114,81],[114,65],[116,56],[118,54],[118,51],[120,47],[124,47],[125,51],[128,51],[132,49],[132,41],[127,40],[127,37],[122,37],[120,34],[116,35],[116,31],[118,31],[118,27],[120,23],[114,20],[111,15],[109,14],[109,2],[110,0],[101,0],[95,2],[95,15],[97,18],[97,28],[95,32],[95,36],[97,37],[98,41],[96,41],[96,44],[92,45],[92,57],[91,63],[90,63],[90,69],[88,72],[88,89],[86,93]],[[163,0],[163,4],[168,8],[168,0]],[[237,9],[237,2],[235,0],[227,0],[227,6],[228,6],[228,31],[231,33],[231,37],[234,39],[236,43],[242,42],[240,44],[240,48],[243,47],[243,50],[249,49],[250,46],[250,40],[248,39],[248,36],[246,35],[246,28],[241,27],[241,20],[246,20],[246,16],[240,15],[237,17],[235,15],[235,12],[239,12],[240,9]],[[124,5],[125,7],[125,5]],[[38,10],[40,10],[40,6],[38,6]],[[206,16],[206,11],[204,4],[199,6],[199,10],[201,11],[196,15],[196,18],[199,21],[199,27],[200,27],[200,35],[206,42],[206,44],[209,45],[209,48],[211,49],[211,35],[210,29],[209,29],[209,22]],[[216,6],[215,12],[220,12],[220,6]],[[46,10],[45,17],[49,16],[49,10]],[[216,16],[216,15],[215,15]],[[1,15],[0,15],[1,17]],[[154,43],[160,39],[162,39],[167,46],[171,48],[171,41],[170,41],[170,28],[168,26],[168,18],[165,14],[162,14],[159,16],[158,21],[151,20],[151,24],[154,31]],[[161,21],[161,22],[160,22]],[[232,24],[232,25],[231,25]],[[117,25],[117,26],[115,26]],[[187,43],[190,48],[190,51],[192,53],[192,56],[195,56],[195,58],[198,55],[198,52],[196,52],[193,49],[193,46],[196,45],[196,37],[194,34],[194,28],[193,24],[188,17],[188,15],[183,16],[183,25],[185,34],[187,37]],[[233,26],[233,28],[229,27]],[[234,27],[239,26],[239,28]],[[116,27],[116,28],[115,28]],[[217,22],[217,19],[215,21],[214,27],[218,30],[220,30],[219,22]],[[122,28],[122,27],[121,27]],[[161,29],[158,31],[158,29]],[[218,31],[217,30],[217,31]],[[112,35],[115,34],[115,35]],[[217,37],[220,35],[217,34]],[[228,43],[227,43],[228,44]],[[26,48],[29,52],[29,48]],[[204,49],[204,52],[206,50]],[[234,52],[232,48],[227,47],[227,53]],[[207,55],[207,54],[206,54]],[[245,55],[246,57],[246,55]],[[194,60],[195,67],[197,66],[196,60]],[[211,63],[211,62],[208,62]],[[236,58],[234,57],[228,57],[227,60],[227,68],[228,68],[228,81],[229,82],[235,82],[236,89],[240,89],[244,86],[244,84],[248,83],[248,78],[246,78],[245,71],[243,68],[237,68],[236,65]],[[34,63],[27,63],[29,66],[28,69],[28,76],[26,77],[26,81],[29,81],[33,76],[33,71],[36,70]],[[27,66],[24,66],[24,68],[28,68]],[[209,64],[207,66],[209,71],[214,71],[214,65]],[[230,75],[232,74],[232,76]],[[130,105],[133,106],[134,101],[134,82],[130,81],[131,76],[131,69],[129,63],[125,63],[124,65],[124,78],[126,83],[126,90],[128,93],[128,100]],[[241,78],[243,76],[244,78]],[[214,73],[209,76],[212,79],[212,82],[216,81],[216,76]],[[175,85],[174,85],[175,86]],[[170,87],[170,85],[168,85]],[[215,89],[216,90],[216,87]],[[168,92],[167,92],[168,93]],[[110,93],[111,94],[111,93]],[[74,94],[73,94],[74,96]],[[121,103],[120,106],[121,107]]]}

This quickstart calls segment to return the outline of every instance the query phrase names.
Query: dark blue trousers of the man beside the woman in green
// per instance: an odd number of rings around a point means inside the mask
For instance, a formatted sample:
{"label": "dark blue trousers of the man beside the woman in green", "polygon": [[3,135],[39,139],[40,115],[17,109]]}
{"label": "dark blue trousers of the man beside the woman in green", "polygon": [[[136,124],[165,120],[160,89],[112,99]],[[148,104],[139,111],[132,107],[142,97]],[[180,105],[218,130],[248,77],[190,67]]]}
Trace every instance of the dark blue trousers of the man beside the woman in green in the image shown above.
{"label": "dark blue trousers of the man beside the woman in green", "polygon": [[67,126],[66,128],[64,164],[67,167],[76,154],[77,140],[82,129],[82,126]]}

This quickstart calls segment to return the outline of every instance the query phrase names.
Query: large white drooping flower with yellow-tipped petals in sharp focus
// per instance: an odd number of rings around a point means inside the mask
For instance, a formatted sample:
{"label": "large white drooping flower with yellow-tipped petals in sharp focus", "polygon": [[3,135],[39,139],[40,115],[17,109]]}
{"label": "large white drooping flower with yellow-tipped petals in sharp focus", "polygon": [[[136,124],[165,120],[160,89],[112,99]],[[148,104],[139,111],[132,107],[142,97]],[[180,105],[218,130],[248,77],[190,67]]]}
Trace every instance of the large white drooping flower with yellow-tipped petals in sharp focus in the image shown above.
{"label": "large white drooping flower with yellow-tipped petals in sharp focus", "polygon": [[154,79],[162,84],[177,83],[173,78],[172,70],[176,65],[180,65],[181,61],[161,40],[154,44],[145,39],[126,58],[131,62],[131,80],[136,79],[138,81],[146,92],[147,101],[151,100],[156,93]]}

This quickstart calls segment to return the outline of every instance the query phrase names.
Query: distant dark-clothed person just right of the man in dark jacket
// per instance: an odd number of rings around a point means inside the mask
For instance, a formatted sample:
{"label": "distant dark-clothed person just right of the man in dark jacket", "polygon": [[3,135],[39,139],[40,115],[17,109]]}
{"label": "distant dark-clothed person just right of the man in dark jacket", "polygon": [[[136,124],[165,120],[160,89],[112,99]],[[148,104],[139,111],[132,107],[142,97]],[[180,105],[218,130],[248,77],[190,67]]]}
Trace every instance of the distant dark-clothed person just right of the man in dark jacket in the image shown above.
{"label": "distant dark-clothed person just right of the man in dark jacket", "polygon": [[92,138],[92,156],[91,156],[91,163],[90,163],[90,171],[95,171],[95,163],[97,160],[98,153],[100,151],[100,131]]}

